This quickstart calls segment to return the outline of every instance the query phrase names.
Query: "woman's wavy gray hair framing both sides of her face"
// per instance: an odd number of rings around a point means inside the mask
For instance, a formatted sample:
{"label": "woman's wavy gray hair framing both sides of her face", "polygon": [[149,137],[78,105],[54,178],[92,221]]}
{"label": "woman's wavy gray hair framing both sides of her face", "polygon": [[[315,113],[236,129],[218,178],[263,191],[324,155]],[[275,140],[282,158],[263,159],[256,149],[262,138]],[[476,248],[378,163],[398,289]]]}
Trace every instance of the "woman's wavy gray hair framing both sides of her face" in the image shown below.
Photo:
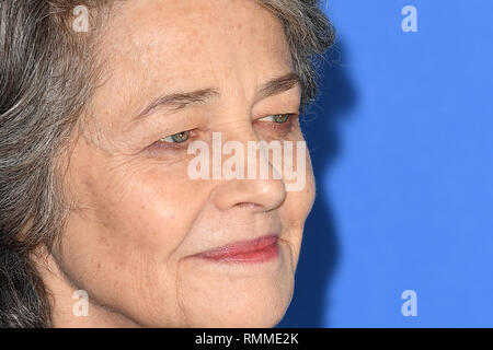
{"label": "woman's wavy gray hair framing both sides of her face", "polygon": [[[53,249],[70,210],[64,165],[98,78],[95,35],[69,22],[80,4],[116,0],[2,0],[0,4],[0,327],[50,327],[49,291],[32,254]],[[255,0],[283,23],[302,103],[317,93],[316,62],[334,40],[318,0]]]}

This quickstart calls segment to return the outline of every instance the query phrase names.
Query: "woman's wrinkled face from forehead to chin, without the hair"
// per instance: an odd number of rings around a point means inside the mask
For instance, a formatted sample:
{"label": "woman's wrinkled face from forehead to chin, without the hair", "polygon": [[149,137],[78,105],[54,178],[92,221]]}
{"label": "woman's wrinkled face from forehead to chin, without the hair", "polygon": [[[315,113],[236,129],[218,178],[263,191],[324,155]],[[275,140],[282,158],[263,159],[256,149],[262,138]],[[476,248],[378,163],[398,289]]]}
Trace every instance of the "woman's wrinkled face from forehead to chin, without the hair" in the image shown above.
{"label": "woman's wrinkled face from forehead to chin, without the hair", "polygon": [[[115,11],[99,42],[106,73],[66,176],[77,209],[55,252],[60,270],[88,292],[90,317],[274,326],[314,199],[309,154],[305,187],[286,191],[273,176],[193,179],[187,145],[211,145],[215,131],[245,150],[295,141],[296,155],[296,116],[270,117],[300,104],[280,23],[251,0],[134,0]],[[272,245],[243,252],[260,237]]]}

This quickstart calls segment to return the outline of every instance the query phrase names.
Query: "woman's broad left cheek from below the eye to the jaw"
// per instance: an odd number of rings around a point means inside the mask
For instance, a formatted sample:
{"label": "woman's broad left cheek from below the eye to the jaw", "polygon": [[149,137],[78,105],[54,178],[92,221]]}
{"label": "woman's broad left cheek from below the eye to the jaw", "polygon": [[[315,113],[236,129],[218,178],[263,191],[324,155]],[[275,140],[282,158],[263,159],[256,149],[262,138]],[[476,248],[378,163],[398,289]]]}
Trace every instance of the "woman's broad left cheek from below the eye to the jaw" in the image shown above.
{"label": "woman's broad left cheek from below the eye to the jaw", "polygon": [[179,173],[142,166],[79,173],[81,209],[70,215],[62,238],[64,269],[72,281],[90,299],[142,323],[162,325],[174,315],[182,242],[206,196]]}

